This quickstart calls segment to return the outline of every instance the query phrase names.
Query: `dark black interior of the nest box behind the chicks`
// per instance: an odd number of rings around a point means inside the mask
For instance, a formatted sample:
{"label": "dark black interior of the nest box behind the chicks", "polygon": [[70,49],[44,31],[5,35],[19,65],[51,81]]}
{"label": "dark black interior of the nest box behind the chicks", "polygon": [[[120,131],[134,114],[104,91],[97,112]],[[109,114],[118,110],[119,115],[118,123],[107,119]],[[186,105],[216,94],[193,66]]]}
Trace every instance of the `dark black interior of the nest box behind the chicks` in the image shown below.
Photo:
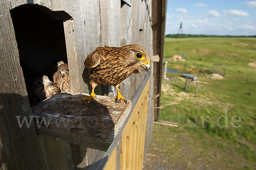
{"label": "dark black interior of the nest box behind the chicks", "polygon": [[[10,11],[20,57],[20,65],[31,96],[32,82],[42,75],[52,81],[57,62],[67,63],[63,22],[72,17],[65,11],[51,11],[39,5],[22,5]],[[42,81],[37,82],[38,85]],[[35,102],[31,102],[34,105]],[[40,102],[40,101],[38,101]]]}

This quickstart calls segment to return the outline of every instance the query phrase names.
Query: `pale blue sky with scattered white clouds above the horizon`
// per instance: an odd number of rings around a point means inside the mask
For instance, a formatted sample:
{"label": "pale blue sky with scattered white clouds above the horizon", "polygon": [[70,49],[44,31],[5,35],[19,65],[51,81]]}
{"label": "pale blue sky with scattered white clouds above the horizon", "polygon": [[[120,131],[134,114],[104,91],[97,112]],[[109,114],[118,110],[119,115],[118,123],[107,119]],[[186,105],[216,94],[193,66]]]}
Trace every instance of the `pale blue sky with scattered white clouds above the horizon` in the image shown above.
{"label": "pale blue sky with scattered white clouds above the horizon", "polygon": [[256,0],[168,0],[165,34],[256,35]]}

